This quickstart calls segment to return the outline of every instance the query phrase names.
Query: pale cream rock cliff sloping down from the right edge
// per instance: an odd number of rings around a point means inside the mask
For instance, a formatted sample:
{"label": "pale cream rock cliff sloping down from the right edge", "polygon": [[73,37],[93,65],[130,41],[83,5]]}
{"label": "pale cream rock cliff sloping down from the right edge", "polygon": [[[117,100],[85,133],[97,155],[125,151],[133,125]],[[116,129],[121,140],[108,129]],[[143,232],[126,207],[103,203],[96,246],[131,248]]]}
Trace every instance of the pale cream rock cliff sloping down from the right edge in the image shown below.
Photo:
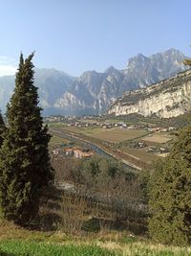
{"label": "pale cream rock cliff sloping down from the right edge", "polygon": [[126,92],[108,110],[109,114],[160,118],[179,116],[191,109],[191,69],[146,88]]}

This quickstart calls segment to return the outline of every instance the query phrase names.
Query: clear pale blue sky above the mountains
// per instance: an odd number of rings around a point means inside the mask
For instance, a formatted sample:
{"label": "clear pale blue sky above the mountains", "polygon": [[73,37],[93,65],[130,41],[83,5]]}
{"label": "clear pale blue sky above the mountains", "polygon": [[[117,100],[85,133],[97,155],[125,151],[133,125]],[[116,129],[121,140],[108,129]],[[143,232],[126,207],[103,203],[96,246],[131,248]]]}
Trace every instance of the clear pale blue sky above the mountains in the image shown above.
{"label": "clear pale blue sky above the mountains", "polygon": [[176,48],[191,56],[190,0],[0,0],[0,76],[19,55],[79,76]]}

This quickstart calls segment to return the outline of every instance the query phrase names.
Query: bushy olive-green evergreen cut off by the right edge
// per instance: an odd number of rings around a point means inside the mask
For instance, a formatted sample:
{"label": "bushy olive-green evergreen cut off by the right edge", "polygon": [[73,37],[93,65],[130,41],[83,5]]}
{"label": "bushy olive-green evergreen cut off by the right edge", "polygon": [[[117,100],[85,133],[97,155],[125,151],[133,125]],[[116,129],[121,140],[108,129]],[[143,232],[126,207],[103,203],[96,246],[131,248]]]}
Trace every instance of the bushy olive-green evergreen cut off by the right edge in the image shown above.
{"label": "bushy olive-green evergreen cut off by the right edge", "polygon": [[190,244],[191,127],[181,130],[172,152],[151,176],[151,236],[165,244]]}

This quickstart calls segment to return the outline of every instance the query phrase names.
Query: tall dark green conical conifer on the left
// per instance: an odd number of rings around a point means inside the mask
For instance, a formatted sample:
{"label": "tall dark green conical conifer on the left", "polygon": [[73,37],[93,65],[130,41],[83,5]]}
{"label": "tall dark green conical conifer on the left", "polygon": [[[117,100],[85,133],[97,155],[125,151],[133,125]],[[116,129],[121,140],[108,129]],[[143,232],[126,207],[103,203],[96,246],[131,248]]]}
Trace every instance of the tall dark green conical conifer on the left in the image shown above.
{"label": "tall dark green conical conifer on the left", "polygon": [[8,105],[8,129],[0,151],[0,210],[8,220],[27,223],[38,212],[42,188],[53,180],[48,128],[43,126],[33,85],[32,55],[20,56]]}

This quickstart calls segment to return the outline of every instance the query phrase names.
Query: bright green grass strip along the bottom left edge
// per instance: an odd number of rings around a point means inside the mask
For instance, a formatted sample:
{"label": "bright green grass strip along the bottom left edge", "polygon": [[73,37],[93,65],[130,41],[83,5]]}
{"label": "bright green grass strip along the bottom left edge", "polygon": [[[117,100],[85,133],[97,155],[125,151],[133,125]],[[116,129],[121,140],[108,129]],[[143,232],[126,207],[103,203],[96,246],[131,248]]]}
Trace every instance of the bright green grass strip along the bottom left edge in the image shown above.
{"label": "bright green grass strip along the bottom left edge", "polygon": [[1,256],[113,256],[114,251],[96,245],[44,244],[22,241],[6,241],[0,243]]}

